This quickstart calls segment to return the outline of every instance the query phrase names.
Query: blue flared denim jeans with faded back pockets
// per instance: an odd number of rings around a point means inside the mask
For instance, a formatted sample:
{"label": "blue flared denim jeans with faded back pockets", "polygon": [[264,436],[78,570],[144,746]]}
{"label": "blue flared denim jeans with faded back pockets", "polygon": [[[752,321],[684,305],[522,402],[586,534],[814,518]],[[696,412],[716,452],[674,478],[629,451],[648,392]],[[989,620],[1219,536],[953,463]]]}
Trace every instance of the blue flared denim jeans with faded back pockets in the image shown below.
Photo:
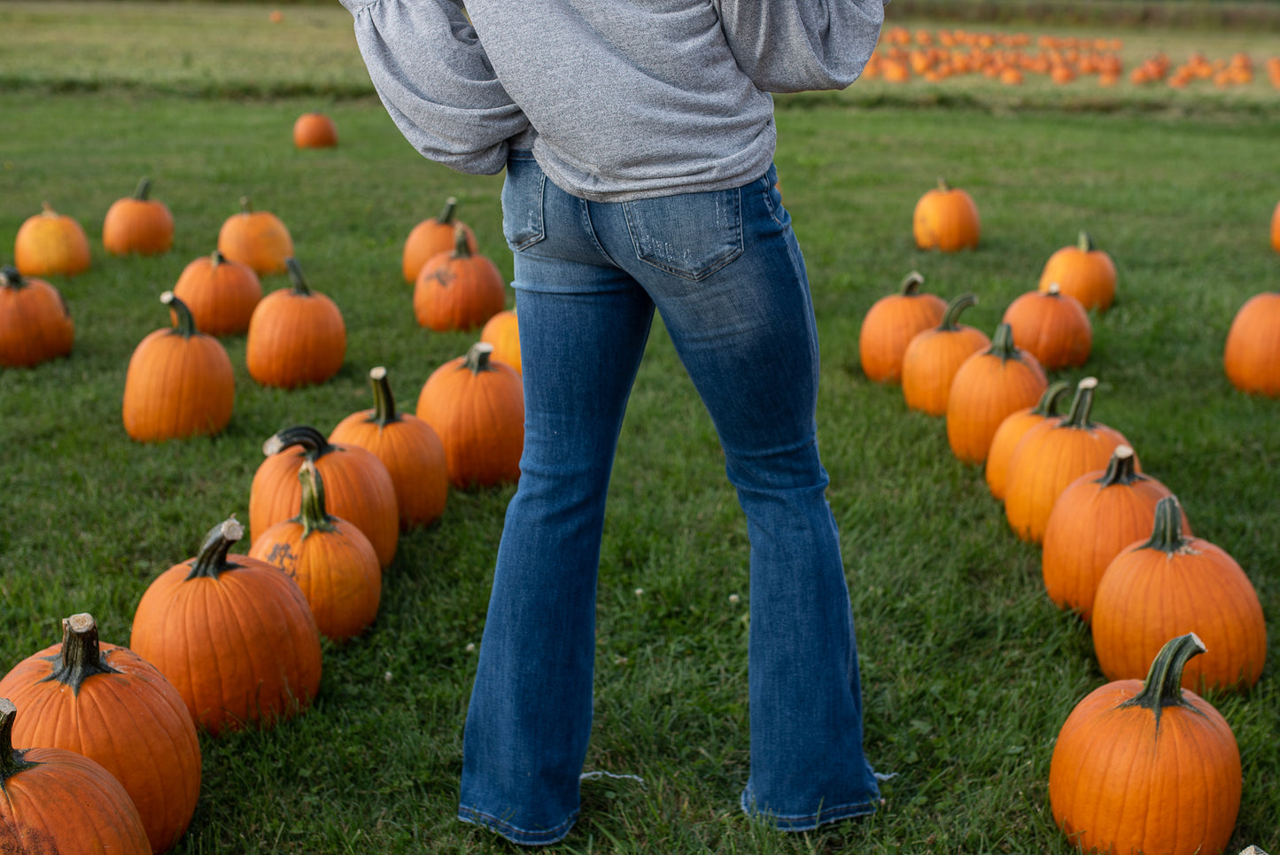
{"label": "blue flared denim jeans with faded back pockets", "polygon": [[591,730],[605,493],[654,310],[724,449],[750,539],[750,774],[783,831],[874,811],[854,622],[818,457],[818,340],[771,168],[727,191],[594,202],[513,152],[525,449],[463,736],[460,819],[563,838]]}

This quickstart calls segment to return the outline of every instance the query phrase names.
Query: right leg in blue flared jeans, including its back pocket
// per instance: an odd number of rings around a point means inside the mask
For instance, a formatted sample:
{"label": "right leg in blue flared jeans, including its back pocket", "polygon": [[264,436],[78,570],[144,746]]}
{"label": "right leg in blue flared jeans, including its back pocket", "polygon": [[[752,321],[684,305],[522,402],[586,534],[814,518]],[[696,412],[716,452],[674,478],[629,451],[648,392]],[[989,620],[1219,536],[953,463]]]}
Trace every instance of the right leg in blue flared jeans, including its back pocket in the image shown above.
{"label": "right leg in blue flared jeans, including its back pocket", "polygon": [[[803,831],[872,813],[849,590],[815,440],[818,342],[771,174],[627,202],[607,250],[653,297],[716,424],[751,543],[748,813]],[[631,261],[622,261],[626,243]]]}

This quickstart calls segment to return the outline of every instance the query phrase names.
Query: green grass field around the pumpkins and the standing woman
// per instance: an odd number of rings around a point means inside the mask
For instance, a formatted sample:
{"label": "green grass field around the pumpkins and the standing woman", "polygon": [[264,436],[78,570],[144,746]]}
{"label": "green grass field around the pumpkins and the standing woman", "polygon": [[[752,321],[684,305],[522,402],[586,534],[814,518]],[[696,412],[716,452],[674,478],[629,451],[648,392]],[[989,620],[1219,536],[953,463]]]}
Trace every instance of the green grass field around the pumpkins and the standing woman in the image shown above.
{"label": "green grass field around the pumpkins and the standing woman", "polygon": [[[56,641],[76,612],[93,613],[105,641],[127,643],[147,584],[189,558],[216,521],[247,517],[262,442],[294,424],[328,431],[370,406],[370,367],[388,366],[412,408],[426,376],[475,338],[417,328],[399,279],[404,236],[445,196],[458,197],[458,216],[508,279],[511,253],[500,177],[416,155],[369,95],[337,6],[287,8],[273,26],[262,6],[3,3],[0,29],[0,261],[45,200],[93,243],[90,271],[52,279],[76,319],[72,356],[0,372],[8,669]],[[1201,33],[1162,37],[1171,55],[1210,50]],[[1248,42],[1260,59],[1267,44],[1212,37]],[[965,320],[989,333],[1082,228],[1116,260],[1119,298],[1093,317],[1089,362],[1061,376],[1101,380],[1096,417],[1125,433],[1196,534],[1230,552],[1258,590],[1271,630],[1263,677],[1210,699],[1244,764],[1229,850],[1280,850],[1280,402],[1235,392],[1221,370],[1231,316],[1275,289],[1280,271],[1267,241],[1280,95],[1258,84],[1247,104],[1198,90],[1116,95],[1105,109],[1047,88],[1011,102],[978,84],[963,97],[855,84],[780,99],[777,164],[822,337],[819,438],[858,621],[867,746],[897,777],[878,815],[809,835],[780,836],[739,814],[745,523],[659,328],[611,488],[588,758],[589,769],[645,783],[585,783],[579,826],[549,851],[1071,851],[1046,779],[1057,728],[1103,682],[1088,627],[1044,596],[1038,549],[1014,538],[982,471],[952,457],[943,422],[863,376],[858,330],[915,269],[945,297],[977,293]],[[317,108],[340,145],[294,150],[293,119]],[[175,246],[108,256],[102,215],[142,175],[173,210]],[[914,247],[911,209],[938,175],[975,198],[978,251]],[[129,355],[168,323],[160,292],[214,248],[242,195],[289,225],[311,284],[342,307],[347,362],[320,387],[264,389],[244,370],[243,338],[229,338],[227,433],[132,443],[119,410]],[[402,538],[378,622],[325,646],[305,715],[202,740],[202,795],[178,852],[513,851],[453,819],[474,645],[509,495],[453,491],[436,526]]]}

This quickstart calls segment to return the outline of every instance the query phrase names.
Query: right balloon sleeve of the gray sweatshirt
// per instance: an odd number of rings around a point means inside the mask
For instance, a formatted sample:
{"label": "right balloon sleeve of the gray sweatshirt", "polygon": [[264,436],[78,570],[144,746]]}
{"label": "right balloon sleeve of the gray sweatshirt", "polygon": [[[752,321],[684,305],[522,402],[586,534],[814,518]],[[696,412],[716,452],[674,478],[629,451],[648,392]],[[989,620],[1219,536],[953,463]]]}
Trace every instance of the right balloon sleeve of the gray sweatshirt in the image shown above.
{"label": "right balloon sleeve of the gray sweatshirt", "polygon": [[739,67],[765,92],[842,90],[863,73],[887,0],[714,0]]}

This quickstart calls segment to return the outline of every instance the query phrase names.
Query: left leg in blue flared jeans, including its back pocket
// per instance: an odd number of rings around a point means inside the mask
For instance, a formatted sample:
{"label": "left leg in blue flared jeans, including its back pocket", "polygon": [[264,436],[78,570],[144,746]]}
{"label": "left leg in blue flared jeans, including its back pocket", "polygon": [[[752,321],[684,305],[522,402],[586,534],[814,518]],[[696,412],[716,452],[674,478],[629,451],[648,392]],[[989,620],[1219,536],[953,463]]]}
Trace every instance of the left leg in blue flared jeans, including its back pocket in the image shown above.
{"label": "left leg in blue flared jeans, including its back pocket", "polygon": [[604,500],[653,303],[605,261],[585,204],[512,161],[525,449],[463,736],[460,818],[524,845],[573,824],[591,728]]}

